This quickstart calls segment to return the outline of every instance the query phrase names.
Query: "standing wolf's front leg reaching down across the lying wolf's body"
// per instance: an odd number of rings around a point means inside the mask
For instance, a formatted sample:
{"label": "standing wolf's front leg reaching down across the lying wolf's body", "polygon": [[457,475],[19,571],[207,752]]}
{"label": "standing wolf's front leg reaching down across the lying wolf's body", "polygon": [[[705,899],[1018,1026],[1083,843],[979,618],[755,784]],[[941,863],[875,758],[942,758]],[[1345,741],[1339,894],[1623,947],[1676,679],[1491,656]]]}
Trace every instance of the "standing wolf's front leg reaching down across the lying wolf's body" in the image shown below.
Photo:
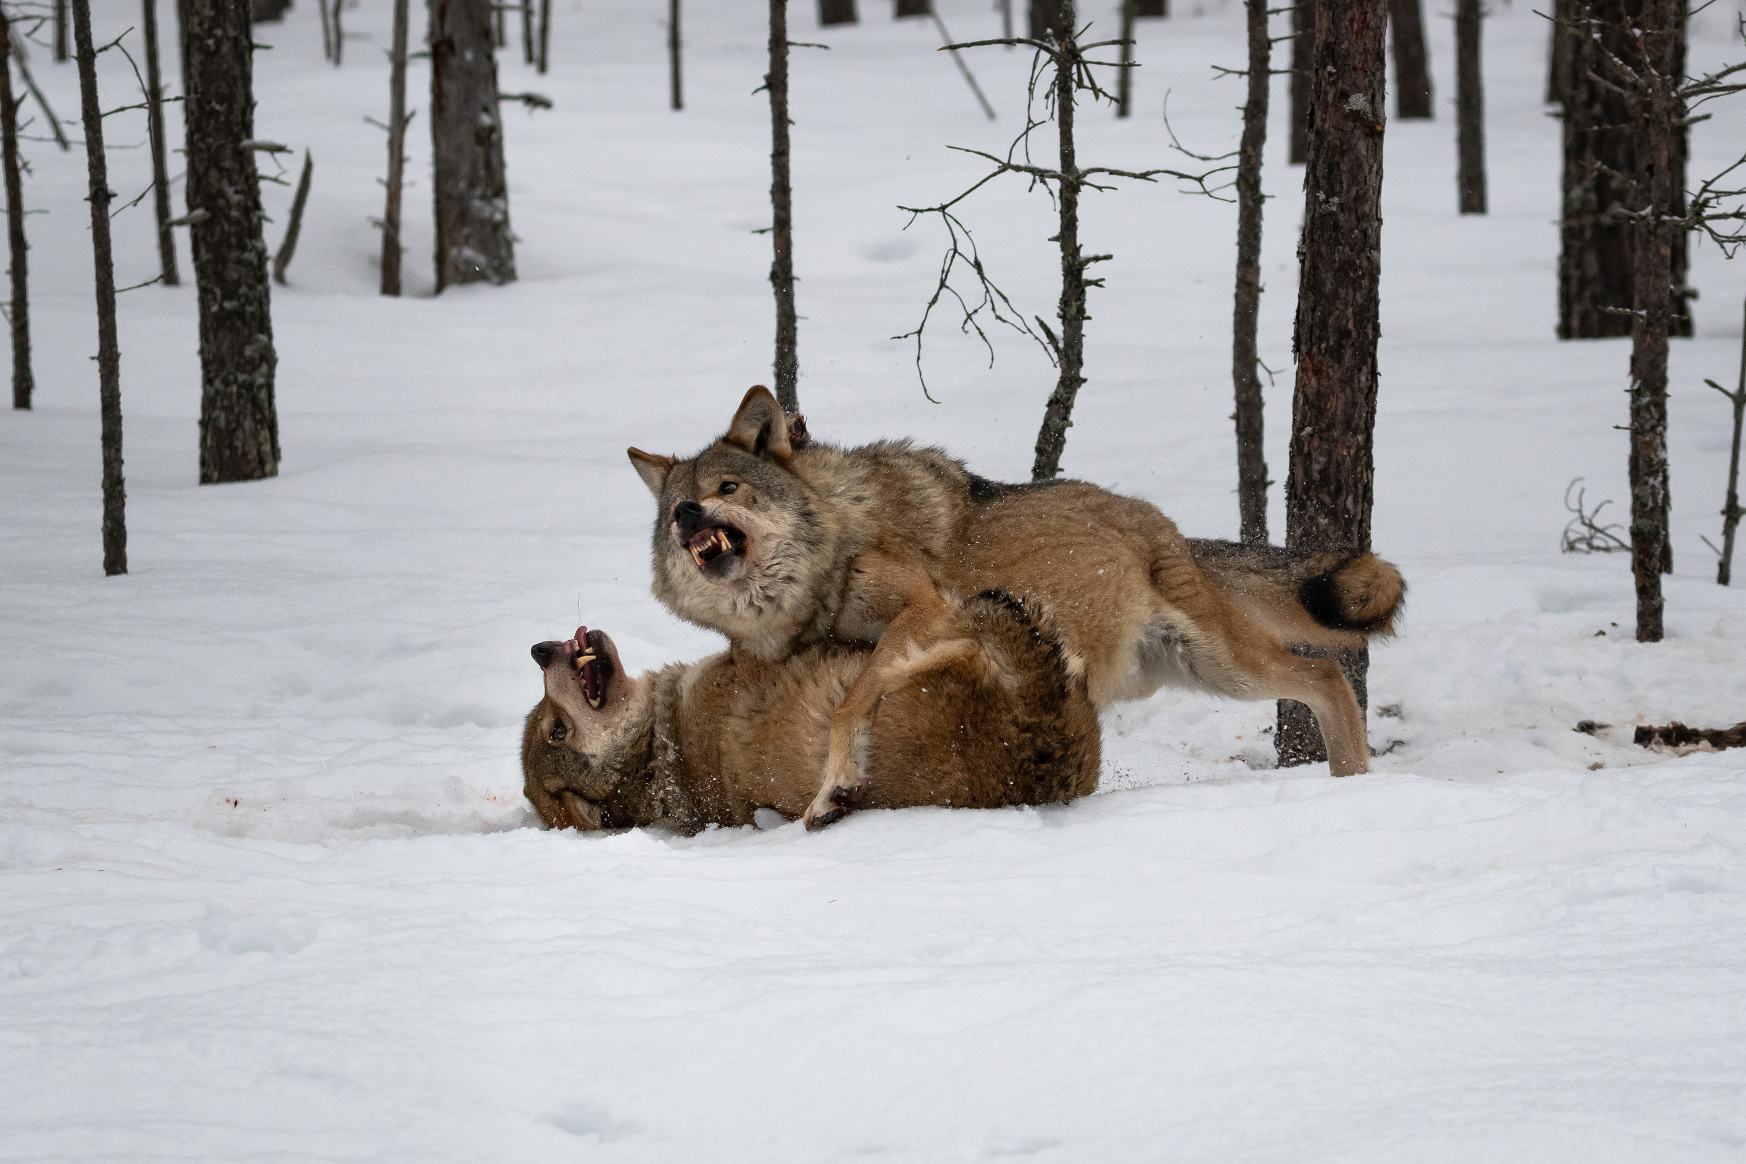
{"label": "standing wolf's front leg reaching down across the lying wolf's body", "polygon": [[842,820],[866,796],[873,712],[885,693],[913,670],[911,656],[934,646],[952,618],[952,607],[913,557],[875,551],[861,555],[852,569],[857,597],[880,611],[885,632],[831,716],[824,780],[807,808],[807,829]]}

